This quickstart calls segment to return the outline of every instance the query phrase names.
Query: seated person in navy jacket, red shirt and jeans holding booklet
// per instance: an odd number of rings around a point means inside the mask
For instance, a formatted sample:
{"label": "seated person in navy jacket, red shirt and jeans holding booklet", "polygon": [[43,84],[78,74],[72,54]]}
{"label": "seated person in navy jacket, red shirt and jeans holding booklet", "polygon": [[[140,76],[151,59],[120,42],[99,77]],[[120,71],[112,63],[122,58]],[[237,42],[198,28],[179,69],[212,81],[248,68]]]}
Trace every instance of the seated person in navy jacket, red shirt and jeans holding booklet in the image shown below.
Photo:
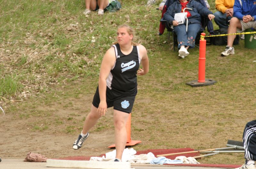
{"label": "seated person in navy jacket, red shirt and jeans holding booklet", "polygon": [[[179,24],[178,21],[174,19],[176,13],[183,12],[184,8],[191,8],[192,10],[186,10],[188,18],[188,31],[186,31],[187,22]],[[173,25],[173,30],[177,34],[178,38],[178,48],[179,56],[185,58],[188,56],[188,48],[195,47],[196,35],[201,28],[201,17],[208,17],[209,20],[214,18],[211,11],[204,7],[199,2],[195,0],[178,0],[170,5],[167,11],[164,13],[164,20],[167,20],[171,25]]]}

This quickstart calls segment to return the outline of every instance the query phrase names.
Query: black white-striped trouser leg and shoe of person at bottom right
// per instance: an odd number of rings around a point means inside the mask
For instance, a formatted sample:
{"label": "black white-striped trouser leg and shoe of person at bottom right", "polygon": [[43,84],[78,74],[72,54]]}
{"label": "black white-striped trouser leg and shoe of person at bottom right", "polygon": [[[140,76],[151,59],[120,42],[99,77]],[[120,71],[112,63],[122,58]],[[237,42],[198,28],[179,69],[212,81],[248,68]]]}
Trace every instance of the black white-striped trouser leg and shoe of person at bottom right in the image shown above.
{"label": "black white-striped trouser leg and shoe of person at bottom right", "polygon": [[245,163],[236,169],[255,169],[256,160],[256,120],[248,122],[243,134]]}

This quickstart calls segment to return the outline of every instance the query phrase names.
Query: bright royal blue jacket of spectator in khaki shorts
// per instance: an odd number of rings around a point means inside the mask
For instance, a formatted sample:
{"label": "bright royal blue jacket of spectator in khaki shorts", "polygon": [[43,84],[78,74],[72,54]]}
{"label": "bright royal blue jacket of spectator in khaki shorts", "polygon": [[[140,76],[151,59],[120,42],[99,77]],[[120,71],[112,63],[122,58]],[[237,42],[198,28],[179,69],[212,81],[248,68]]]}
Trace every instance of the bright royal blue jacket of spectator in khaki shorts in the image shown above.
{"label": "bright royal blue jacket of spectator in khaki shorts", "polygon": [[256,19],[256,0],[235,0],[233,9],[234,17],[240,20],[243,20],[244,15],[251,15]]}

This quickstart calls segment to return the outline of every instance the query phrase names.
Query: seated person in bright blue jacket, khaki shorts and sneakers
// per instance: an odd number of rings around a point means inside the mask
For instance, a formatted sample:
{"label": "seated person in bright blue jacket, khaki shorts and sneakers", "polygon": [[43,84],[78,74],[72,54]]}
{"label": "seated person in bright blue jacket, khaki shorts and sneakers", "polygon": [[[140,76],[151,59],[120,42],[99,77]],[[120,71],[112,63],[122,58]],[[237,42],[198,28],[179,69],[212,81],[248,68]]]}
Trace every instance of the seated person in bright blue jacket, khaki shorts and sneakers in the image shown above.
{"label": "seated person in bright blue jacket, khaki shorts and sneakers", "polygon": [[[235,0],[234,14],[231,18],[228,33],[244,32],[246,29],[256,29],[256,0]],[[228,44],[221,56],[228,56],[229,54],[235,54],[233,46],[236,35],[228,35]]]}

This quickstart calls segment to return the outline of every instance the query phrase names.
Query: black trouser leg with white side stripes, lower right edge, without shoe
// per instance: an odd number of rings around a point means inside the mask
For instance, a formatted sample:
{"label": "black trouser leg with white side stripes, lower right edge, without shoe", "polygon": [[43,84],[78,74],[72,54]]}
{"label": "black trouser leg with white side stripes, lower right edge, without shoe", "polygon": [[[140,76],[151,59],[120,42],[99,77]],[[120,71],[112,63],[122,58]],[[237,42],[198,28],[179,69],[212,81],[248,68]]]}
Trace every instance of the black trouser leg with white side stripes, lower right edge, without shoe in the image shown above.
{"label": "black trouser leg with white side stripes, lower right edge, without shoe", "polygon": [[256,120],[248,122],[244,128],[244,158],[256,161]]}

